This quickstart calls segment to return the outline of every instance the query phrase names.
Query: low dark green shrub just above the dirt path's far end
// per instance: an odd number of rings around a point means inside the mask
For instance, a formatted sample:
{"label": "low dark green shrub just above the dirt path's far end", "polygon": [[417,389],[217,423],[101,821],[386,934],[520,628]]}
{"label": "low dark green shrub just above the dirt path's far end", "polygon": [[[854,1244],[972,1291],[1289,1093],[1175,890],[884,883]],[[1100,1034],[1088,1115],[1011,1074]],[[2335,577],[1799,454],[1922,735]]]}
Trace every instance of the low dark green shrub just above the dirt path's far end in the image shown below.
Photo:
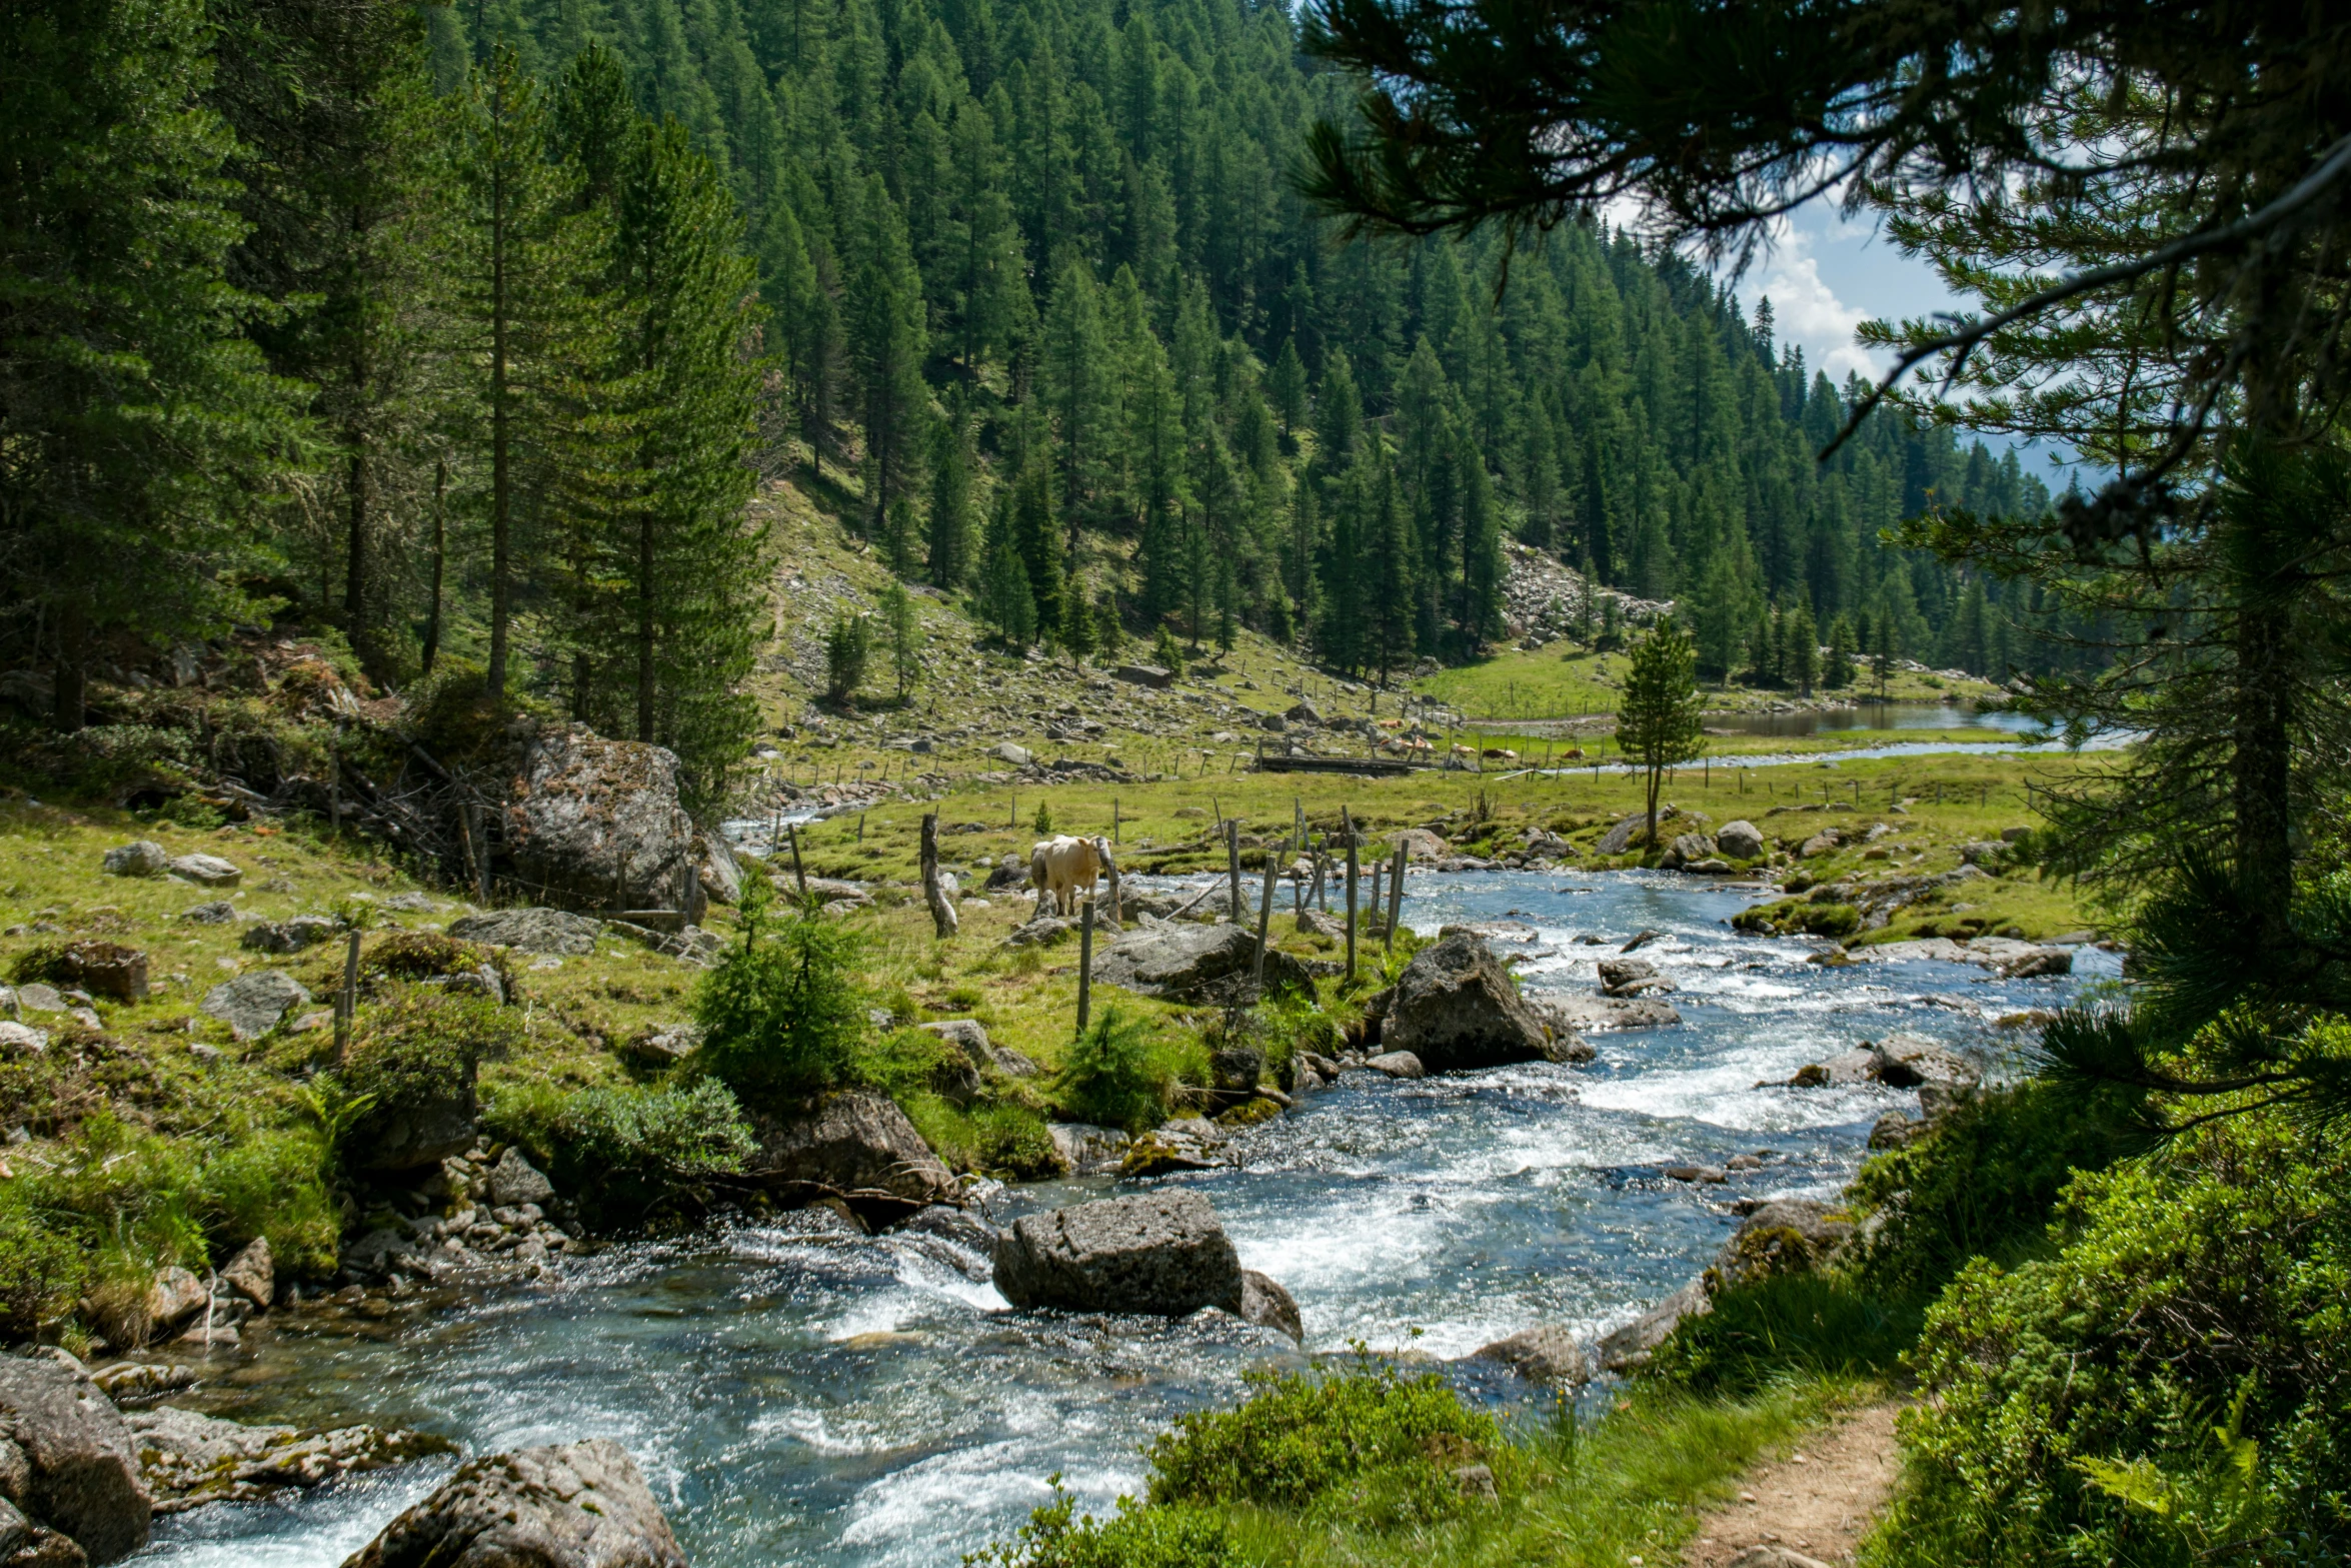
{"label": "low dark green shrub just above the dirt path's far end", "polygon": [[1918,1342],[1925,1312],[1834,1274],[1773,1274],[1714,1295],[1655,1349],[1648,1375],[1693,1394],[1751,1394],[1789,1373],[1881,1378]]}

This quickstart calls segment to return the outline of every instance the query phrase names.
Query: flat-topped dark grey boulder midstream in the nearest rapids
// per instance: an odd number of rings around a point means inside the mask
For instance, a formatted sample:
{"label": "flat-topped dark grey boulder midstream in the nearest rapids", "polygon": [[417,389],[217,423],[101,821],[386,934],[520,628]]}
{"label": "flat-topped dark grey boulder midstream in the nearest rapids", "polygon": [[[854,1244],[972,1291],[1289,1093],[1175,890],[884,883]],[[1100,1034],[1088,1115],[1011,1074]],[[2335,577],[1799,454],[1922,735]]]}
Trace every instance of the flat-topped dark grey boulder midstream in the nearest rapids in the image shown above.
{"label": "flat-topped dark grey boulder midstream in the nearest rapids", "polygon": [[1147,1192],[1023,1215],[997,1241],[1013,1307],[1185,1316],[1241,1305],[1241,1260],[1197,1192]]}

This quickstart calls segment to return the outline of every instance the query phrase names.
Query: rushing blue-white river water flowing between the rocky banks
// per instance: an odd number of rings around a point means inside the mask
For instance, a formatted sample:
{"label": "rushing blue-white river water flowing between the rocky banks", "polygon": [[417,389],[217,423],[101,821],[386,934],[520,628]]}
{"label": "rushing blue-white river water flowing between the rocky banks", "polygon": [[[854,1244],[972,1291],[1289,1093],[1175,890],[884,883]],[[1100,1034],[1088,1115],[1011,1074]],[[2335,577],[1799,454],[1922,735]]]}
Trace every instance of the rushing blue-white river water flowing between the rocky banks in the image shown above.
{"label": "rushing blue-white river water flowing between the rocky banks", "polygon": [[[1535,990],[1585,990],[1643,929],[1683,1025],[1596,1034],[1587,1067],[1523,1065],[1387,1081],[1347,1074],[1241,1135],[1244,1168],[1206,1194],[1246,1267],[1291,1288],[1305,1354],[1349,1342],[1451,1359],[1533,1324],[1596,1335],[1704,1267],[1742,1194],[1831,1194],[1869,1124],[1916,1112],[1876,1086],[1756,1088],[1890,1030],[1998,1051],[1991,1018],[2050,1006],[2074,978],[1998,980],[1951,964],[1806,964],[1801,940],[1735,938],[1747,896],[1662,872],[1413,877],[1406,919],[1523,922]],[[1606,936],[1582,945],[1578,936]],[[1728,1187],[1662,1164],[1773,1150]],[[1107,1194],[1110,1178],[999,1190],[997,1222]],[[1218,1312],[1190,1321],[1023,1316],[983,1267],[926,1237],[853,1237],[809,1215],[614,1248],[552,1286],[376,1335],[306,1328],[256,1347],[209,1403],[247,1420],[371,1420],[482,1453],[614,1436],[637,1455],[701,1568],[955,1563],[1049,1497],[1096,1512],[1143,1479],[1138,1446],[1230,1401],[1288,1340]],[[397,1319],[393,1319],[397,1321]],[[1448,1368],[1476,1399],[1526,1389]],[[364,1544],[449,1465],[360,1476],[270,1505],[158,1521],[141,1561],[320,1568]]]}

